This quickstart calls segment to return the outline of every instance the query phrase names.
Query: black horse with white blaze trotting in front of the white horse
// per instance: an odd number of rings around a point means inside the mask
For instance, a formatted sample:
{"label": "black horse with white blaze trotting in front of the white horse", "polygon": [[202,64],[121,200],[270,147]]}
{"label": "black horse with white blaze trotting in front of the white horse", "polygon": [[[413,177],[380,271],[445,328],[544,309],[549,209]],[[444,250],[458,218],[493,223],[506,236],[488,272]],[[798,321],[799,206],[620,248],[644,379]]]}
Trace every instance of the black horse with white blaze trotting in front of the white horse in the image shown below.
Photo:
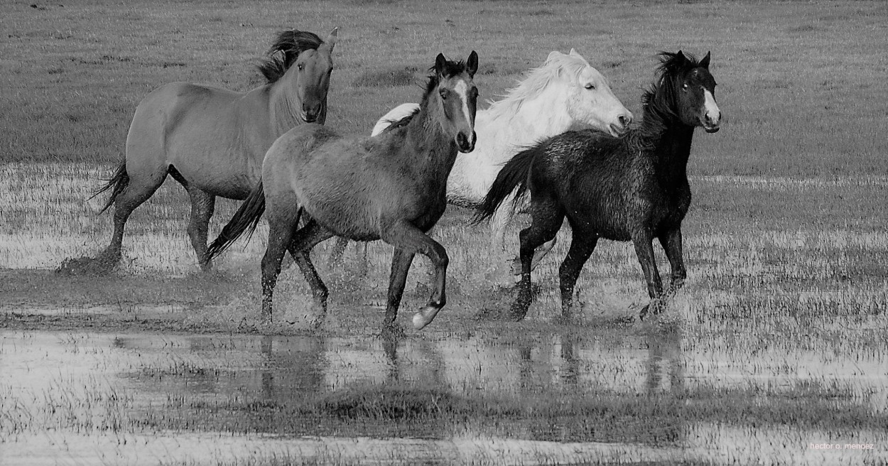
{"label": "black horse with white blaze trotting in front of the white horse", "polygon": [[599,238],[635,245],[654,312],[663,296],[654,238],[672,268],[668,292],[684,283],[681,221],[691,205],[686,171],[691,139],[697,126],[718,131],[721,113],[709,53],[699,62],[681,51],[660,55],[659,79],[642,96],[642,121],[628,133],[614,138],[599,130],[567,131],[515,155],[496,177],[478,221],[491,217],[516,187],[516,202],[528,191],[531,197],[533,223],[520,233],[521,281],[512,319],[523,319],[533,300],[534,249],[555,237],[564,217],[573,234],[559,268],[564,317],[571,316],[576,279]]}

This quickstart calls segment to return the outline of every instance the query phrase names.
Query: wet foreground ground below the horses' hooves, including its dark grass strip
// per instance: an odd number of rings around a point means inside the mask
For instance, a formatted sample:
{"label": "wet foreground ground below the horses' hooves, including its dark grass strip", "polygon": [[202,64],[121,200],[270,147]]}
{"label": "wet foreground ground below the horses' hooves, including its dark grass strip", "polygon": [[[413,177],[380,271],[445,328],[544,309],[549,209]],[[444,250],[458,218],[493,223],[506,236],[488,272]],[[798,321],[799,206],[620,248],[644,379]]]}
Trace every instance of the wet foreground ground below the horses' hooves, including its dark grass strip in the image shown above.
{"label": "wet foreground ground below the horses' hooves, including its dark grass strip", "polygon": [[516,325],[401,340],[0,330],[0,464],[888,461],[884,351]]}

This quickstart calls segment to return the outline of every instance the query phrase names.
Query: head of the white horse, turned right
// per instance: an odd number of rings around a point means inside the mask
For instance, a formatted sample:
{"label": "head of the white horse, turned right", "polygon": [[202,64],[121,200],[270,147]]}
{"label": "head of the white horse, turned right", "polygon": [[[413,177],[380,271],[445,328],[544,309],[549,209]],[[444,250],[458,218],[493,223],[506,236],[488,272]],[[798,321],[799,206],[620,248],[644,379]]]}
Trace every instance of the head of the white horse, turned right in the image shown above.
{"label": "head of the white horse, turned right", "polygon": [[551,84],[563,86],[567,115],[576,122],[619,136],[629,128],[632,113],[614,96],[599,70],[591,67],[574,49],[564,54],[552,51],[544,67],[553,67],[558,77]]}

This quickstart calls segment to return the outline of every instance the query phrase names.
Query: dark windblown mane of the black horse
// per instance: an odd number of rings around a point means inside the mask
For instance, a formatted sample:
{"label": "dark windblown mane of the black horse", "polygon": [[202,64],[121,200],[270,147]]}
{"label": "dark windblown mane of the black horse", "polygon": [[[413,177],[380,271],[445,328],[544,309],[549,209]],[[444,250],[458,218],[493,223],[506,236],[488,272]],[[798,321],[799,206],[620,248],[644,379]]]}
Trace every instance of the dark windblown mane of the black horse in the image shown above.
{"label": "dark windblown mane of the black horse", "polygon": [[[679,54],[680,53],[680,54]],[[623,137],[636,150],[653,149],[654,140],[666,127],[666,119],[678,118],[675,105],[675,80],[685,70],[699,67],[700,62],[689,53],[661,51],[656,79],[641,95],[642,120]],[[684,57],[684,58],[682,58]]]}

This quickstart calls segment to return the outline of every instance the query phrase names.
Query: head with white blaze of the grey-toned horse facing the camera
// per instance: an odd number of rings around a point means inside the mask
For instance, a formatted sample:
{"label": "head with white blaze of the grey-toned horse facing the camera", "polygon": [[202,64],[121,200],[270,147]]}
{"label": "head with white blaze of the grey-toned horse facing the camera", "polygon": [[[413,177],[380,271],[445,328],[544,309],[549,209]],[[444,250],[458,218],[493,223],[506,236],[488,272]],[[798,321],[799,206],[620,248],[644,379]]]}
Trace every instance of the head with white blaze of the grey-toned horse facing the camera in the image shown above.
{"label": "head with white blaze of the grey-toned horse facing the camera", "polygon": [[[469,153],[475,148],[475,112],[477,111],[478,88],[472,80],[478,71],[478,53],[472,51],[465,62],[450,61],[439,53],[435,59],[435,83],[429,89],[431,99],[443,110],[441,127],[452,134],[459,152]],[[431,87],[431,86],[430,86]]]}

